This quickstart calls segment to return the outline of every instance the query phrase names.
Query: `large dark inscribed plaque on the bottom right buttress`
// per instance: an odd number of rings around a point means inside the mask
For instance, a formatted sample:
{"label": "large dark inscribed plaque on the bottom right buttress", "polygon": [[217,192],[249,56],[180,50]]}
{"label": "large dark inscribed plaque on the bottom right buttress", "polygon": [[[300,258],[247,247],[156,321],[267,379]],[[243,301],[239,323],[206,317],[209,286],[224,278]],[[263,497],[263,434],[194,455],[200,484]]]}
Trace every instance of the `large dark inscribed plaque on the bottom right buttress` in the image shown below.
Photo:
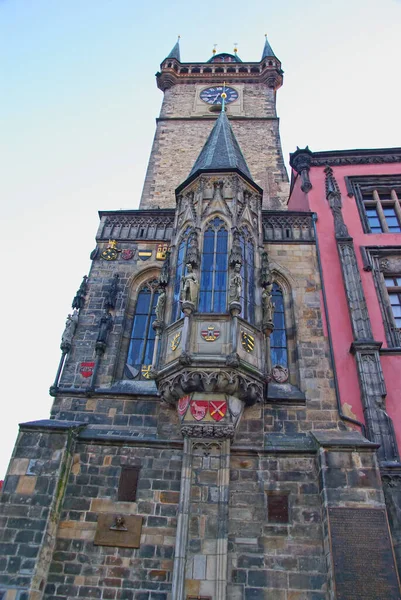
{"label": "large dark inscribed plaque on the bottom right buttress", "polygon": [[337,600],[400,600],[384,510],[330,508],[330,543]]}

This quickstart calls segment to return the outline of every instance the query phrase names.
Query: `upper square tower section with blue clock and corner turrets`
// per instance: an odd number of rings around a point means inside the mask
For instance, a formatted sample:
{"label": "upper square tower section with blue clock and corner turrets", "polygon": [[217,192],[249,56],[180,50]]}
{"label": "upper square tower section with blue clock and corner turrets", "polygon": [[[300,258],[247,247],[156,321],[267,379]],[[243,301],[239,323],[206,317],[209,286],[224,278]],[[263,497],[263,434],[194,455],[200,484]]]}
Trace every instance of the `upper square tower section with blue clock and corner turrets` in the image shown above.
{"label": "upper square tower section with blue clock and corner turrets", "polygon": [[276,92],[283,83],[281,63],[267,39],[259,62],[234,54],[213,54],[200,63],[181,62],[179,41],[156,73],[164,97],[140,208],[173,208],[174,190],[190,172],[221,107],[251,175],[263,188],[263,208],[281,209],[288,198],[288,177],[281,150]]}

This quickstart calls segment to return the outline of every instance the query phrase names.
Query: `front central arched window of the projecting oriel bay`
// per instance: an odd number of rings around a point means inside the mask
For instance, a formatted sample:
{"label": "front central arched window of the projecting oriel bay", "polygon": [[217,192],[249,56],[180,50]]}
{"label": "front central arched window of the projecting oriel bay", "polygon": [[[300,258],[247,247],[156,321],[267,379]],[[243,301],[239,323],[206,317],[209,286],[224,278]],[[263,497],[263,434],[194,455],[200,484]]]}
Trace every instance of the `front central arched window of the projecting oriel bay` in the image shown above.
{"label": "front central arched window of the projecting oriel bay", "polygon": [[228,231],[216,217],[203,236],[199,312],[227,310]]}

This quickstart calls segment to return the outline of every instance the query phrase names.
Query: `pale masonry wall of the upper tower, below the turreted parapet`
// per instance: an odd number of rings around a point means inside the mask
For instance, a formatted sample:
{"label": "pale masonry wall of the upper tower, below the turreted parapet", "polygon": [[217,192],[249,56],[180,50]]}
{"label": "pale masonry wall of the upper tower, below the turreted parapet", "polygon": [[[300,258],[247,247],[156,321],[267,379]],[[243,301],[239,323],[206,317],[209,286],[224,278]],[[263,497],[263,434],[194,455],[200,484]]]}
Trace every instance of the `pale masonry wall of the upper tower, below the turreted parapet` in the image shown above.
{"label": "pale masonry wall of the upper tower, below the turreted parapet", "polygon": [[[212,130],[214,119],[194,116],[196,93],[193,84],[175,85],[165,92],[160,117],[166,120],[157,124],[140,203],[143,209],[175,207],[174,191],[188,177]],[[264,84],[245,84],[241,119],[232,119],[231,124],[251,175],[264,190],[263,207],[285,207],[288,176],[274,91]]]}

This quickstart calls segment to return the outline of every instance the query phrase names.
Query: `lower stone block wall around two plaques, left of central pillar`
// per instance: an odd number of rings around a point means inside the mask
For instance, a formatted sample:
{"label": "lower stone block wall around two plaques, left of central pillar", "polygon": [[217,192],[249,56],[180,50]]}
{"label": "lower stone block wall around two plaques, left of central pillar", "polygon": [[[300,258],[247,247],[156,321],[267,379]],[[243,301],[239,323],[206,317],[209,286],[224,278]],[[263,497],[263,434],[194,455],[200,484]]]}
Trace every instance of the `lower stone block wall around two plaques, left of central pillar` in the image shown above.
{"label": "lower stone block wall around two plaques, left of central pillar", "polygon": [[[45,600],[167,600],[181,450],[79,443],[66,489]],[[140,465],[136,502],[118,502],[122,465]],[[143,516],[138,549],[94,546],[100,513]]]}

